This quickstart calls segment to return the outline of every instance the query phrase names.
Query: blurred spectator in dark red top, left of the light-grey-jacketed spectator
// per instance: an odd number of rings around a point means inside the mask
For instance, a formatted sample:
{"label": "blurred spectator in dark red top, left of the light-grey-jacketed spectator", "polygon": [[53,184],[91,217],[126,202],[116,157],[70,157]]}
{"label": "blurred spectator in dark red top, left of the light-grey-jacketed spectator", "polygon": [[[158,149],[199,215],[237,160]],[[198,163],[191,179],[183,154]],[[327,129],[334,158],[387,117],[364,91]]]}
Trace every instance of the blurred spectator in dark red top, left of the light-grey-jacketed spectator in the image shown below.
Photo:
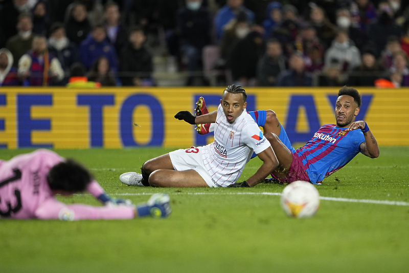
{"label": "blurred spectator in dark red top, left of the light-grey-jacketed spectator", "polygon": [[296,40],[296,48],[304,55],[305,67],[309,72],[321,71],[324,66],[324,44],[309,24],[303,26]]}

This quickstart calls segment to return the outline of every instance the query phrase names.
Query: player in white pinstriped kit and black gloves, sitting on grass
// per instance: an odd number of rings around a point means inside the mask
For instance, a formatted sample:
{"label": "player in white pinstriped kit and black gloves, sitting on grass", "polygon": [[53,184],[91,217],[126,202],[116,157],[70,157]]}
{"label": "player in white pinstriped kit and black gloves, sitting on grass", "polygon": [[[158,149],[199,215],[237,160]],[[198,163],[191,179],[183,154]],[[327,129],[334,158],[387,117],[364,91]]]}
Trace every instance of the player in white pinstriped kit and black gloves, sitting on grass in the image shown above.
{"label": "player in white pinstriped kit and black gloves, sitting on grass", "polygon": [[181,111],[175,118],[190,124],[215,122],[215,140],[202,147],[177,150],[146,161],[142,175],[125,173],[127,185],[157,187],[226,187],[240,177],[253,151],[263,161],[246,184],[256,185],[278,166],[270,143],[245,108],[247,95],[241,86],[228,86],[217,111],[199,117]]}

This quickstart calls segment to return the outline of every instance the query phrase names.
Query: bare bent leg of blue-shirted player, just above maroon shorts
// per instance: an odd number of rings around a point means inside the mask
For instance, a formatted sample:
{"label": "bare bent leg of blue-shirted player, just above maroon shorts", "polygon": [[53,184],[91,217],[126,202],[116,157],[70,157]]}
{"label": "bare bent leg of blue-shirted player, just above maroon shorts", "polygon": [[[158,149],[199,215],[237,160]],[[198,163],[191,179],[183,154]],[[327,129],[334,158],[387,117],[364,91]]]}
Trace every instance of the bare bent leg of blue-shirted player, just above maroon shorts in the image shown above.
{"label": "bare bent leg of blue-shirted player, just above maroon shorts", "polygon": [[271,175],[276,178],[285,179],[288,175],[292,163],[292,153],[288,150],[287,146],[280,140],[280,138],[274,133],[267,133],[264,135],[271,144],[272,150],[277,156],[279,162],[278,167],[272,171]]}

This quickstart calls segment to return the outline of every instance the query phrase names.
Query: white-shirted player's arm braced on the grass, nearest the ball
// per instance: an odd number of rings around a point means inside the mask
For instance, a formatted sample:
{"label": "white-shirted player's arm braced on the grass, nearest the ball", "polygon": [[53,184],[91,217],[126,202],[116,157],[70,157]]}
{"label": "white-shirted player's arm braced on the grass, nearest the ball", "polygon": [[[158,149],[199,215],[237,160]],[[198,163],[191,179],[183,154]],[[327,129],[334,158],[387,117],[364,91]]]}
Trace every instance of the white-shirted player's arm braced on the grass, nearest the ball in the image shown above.
{"label": "white-shirted player's arm braced on the grass, nearest the ball", "polygon": [[258,153],[257,156],[261,159],[261,161],[263,161],[263,164],[261,164],[257,172],[246,181],[232,184],[230,185],[231,187],[243,187],[246,186],[245,183],[247,183],[248,186],[253,187],[262,182],[264,178],[271,174],[272,171],[278,166],[276,154],[272,150],[271,146],[269,146],[263,152]]}

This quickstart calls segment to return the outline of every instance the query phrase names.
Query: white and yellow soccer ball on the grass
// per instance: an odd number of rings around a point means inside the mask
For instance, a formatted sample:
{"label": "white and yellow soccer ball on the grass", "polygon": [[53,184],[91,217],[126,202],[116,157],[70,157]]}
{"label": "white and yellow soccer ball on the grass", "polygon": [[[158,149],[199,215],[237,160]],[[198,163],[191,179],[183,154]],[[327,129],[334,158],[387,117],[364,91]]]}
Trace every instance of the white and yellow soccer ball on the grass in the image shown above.
{"label": "white and yellow soccer ball on the grass", "polygon": [[294,181],[284,188],[281,206],[288,216],[311,217],[320,206],[320,194],[311,183]]}

